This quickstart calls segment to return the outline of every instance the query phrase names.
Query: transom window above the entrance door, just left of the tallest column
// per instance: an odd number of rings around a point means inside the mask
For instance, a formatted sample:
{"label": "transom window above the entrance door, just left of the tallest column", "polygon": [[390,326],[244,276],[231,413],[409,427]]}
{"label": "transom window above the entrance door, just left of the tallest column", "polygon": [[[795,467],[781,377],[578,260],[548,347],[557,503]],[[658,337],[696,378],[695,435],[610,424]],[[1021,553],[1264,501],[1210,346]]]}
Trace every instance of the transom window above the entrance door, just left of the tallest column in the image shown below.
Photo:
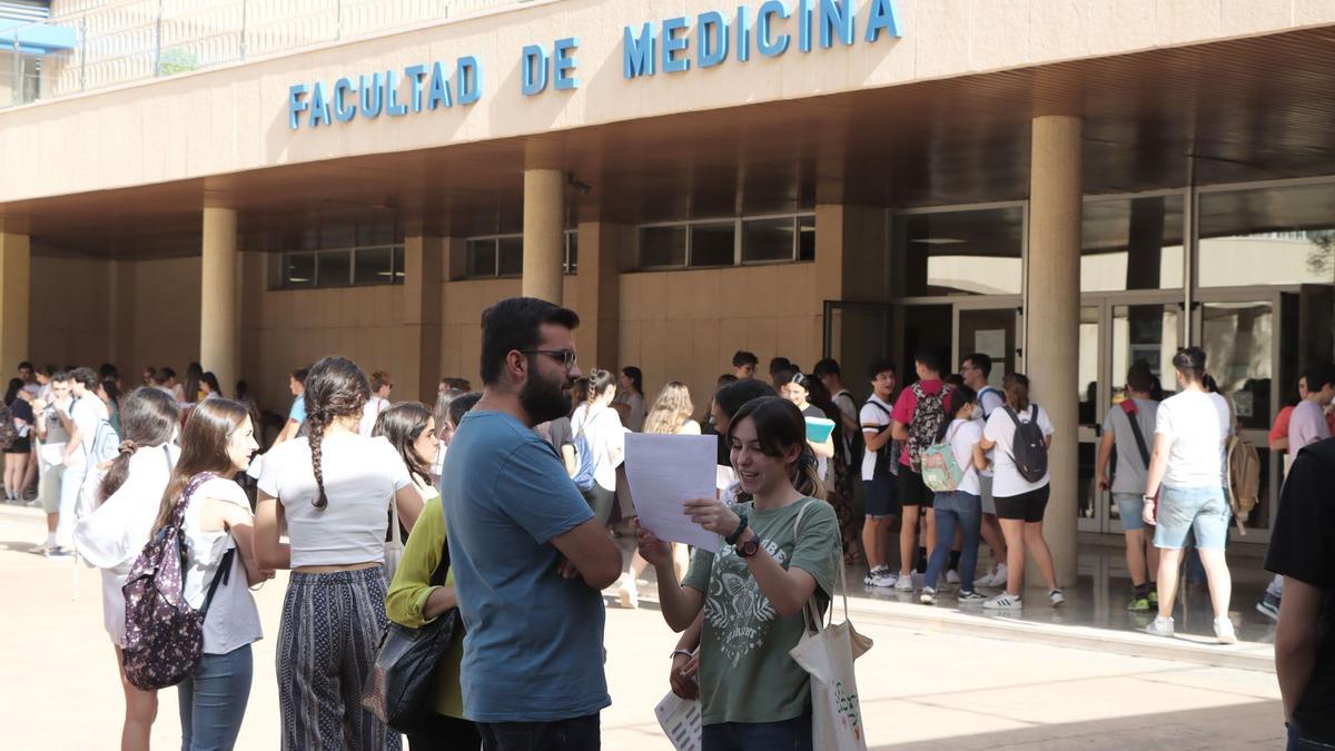
{"label": "transom window above the entrance door, just left of the tallest column", "polygon": [[901,214],[893,243],[904,297],[1020,294],[1020,206]]}

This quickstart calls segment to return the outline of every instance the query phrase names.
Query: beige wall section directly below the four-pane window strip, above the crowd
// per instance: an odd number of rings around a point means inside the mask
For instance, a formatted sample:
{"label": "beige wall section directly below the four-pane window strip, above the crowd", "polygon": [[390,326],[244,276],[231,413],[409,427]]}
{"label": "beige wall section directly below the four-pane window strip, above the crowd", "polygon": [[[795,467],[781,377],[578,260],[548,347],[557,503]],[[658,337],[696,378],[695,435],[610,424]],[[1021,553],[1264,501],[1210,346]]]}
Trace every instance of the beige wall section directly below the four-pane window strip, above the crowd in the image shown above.
{"label": "beige wall section directly below the four-pane window strip, above the crowd", "polygon": [[650,401],[682,381],[702,414],[740,349],[756,353],[761,377],[780,354],[810,370],[821,355],[821,310],[814,263],[622,274],[621,362],[597,366],[638,365]]}

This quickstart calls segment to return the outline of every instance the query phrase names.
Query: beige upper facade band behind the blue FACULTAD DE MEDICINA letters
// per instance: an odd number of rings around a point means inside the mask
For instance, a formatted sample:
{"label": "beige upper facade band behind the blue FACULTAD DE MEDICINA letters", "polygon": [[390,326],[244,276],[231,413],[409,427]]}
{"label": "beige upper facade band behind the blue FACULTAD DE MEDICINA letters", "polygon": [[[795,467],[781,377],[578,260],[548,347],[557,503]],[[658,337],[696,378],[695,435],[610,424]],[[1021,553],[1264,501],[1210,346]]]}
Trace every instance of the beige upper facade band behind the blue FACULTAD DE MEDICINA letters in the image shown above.
{"label": "beige upper facade band behind the blue FACULTAD DE MEDICINA letters", "polygon": [[[709,69],[622,78],[622,27],[728,9],[716,0],[551,0],[0,112],[0,203],[298,162],[545,134],[635,118],[888,87],[1335,23],[1328,0],[900,0],[904,37]],[[758,3],[748,3],[753,11]],[[866,4],[860,3],[865,19]],[[794,31],[796,23],[780,24]],[[861,24],[860,24],[861,27]],[[861,32],[860,32],[861,33]],[[519,92],[525,44],[579,37],[575,91]],[[692,47],[690,53],[694,55]],[[288,87],[405,65],[482,61],[473,106],[292,131]],[[405,88],[406,91],[406,88]]]}

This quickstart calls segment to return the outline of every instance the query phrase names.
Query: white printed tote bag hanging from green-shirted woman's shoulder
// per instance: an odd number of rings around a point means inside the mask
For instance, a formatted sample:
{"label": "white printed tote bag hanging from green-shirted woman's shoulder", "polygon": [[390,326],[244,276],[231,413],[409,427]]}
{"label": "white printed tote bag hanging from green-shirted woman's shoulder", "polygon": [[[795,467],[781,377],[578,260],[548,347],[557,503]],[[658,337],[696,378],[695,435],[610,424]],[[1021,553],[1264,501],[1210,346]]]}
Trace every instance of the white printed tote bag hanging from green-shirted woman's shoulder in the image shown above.
{"label": "white printed tote bag hanging from green-shirted woman's shoulder", "polygon": [[848,583],[840,556],[840,584],[844,588],[844,623],[834,624],[834,603],[829,623],[822,623],[816,599],[802,608],[806,631],[788,653],[812,676],[812,747],[821,751],[866,751],[866,727],[858,703],[853,660],[872,648],[872,640],[853,629],[848,620]]}

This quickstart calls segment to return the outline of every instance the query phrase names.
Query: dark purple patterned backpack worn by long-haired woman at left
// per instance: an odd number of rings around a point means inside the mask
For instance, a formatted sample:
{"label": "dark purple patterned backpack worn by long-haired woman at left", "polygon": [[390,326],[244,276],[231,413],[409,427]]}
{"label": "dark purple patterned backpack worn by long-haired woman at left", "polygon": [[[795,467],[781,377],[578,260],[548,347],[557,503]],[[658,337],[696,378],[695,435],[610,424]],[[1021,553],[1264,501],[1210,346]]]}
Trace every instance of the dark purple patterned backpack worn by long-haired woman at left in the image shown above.
{"label": "dark purple patterned backpack worn by long-haired woman at left", "polygon": [[125,595],[125,678],[144,691],[176,686],[199,664],[204,652],[204,613],[218,584],[231,571],[235,549],[227,551],[208,585],[204,607],[186,603],[186,541],[182,525],[191,496],[215,474],[202,472],[186,482],[171,521],[154,535],[135,559],[121,589]]}

